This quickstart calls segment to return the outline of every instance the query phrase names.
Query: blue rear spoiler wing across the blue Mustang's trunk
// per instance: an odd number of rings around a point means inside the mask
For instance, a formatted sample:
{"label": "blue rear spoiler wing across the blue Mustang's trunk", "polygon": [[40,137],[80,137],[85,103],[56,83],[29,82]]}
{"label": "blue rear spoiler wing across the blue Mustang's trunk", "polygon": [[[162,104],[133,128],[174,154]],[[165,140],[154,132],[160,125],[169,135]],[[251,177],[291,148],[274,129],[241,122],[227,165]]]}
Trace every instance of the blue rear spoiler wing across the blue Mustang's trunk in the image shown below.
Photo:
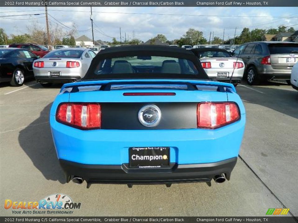
{"label": "blue rear spoiler wing across the blue Mustang's trunk", "polygon": [[[167,88],[172,88],[174,89],[174,86],[178,85],[184,85],[185,88],[183,90],[188,90],[188,91],[194,91],[194,90],[199,90],[198,86],[206,86],[206,87],[217,87],[217,91],[219,92],[226,92],[227,89],[229,91],[236,92],[235,87],[233,84],[229,83],[223,83],[223,82],[218,82],[218,81],[205,81],[205,80],[93,80],[93,81],[78,81],[70,84],[65,84],[62,86],[60,92],[65,92],[66,88],[70,90],[67,90],[68,92],[75,93],[79,92],[79,88],[84,88],[84,87],[93,87],[93,89],[100,90],[100,91],[111,91],[114,89],[120,89],[115,88],[114,86],[119,85],[119,86],[131,86],[133,89],[133,86],[142,86],[144,88],[155,88],[154,86],[167,86]],[[137,88],[137,87],[136,87]],[[162,87],[161,87],[162,88]],[[177,88],[178,89],[178,88]]]}

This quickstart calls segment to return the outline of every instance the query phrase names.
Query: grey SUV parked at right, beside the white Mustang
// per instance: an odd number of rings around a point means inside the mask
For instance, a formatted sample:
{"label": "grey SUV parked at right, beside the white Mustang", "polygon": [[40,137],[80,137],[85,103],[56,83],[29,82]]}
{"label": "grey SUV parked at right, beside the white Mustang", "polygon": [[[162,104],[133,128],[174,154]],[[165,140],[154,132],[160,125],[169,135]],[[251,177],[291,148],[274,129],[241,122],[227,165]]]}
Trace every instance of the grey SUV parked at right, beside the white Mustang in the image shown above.
{"label": "grey SUV parked at right, beside the white Mustang", "polygon": [[243,78],[250,85],[262,80],[286,80],[290,85],[291,70],[298,62],[298,43],[294,42],[249,42],[237,47],[233,57],[245,63]]}

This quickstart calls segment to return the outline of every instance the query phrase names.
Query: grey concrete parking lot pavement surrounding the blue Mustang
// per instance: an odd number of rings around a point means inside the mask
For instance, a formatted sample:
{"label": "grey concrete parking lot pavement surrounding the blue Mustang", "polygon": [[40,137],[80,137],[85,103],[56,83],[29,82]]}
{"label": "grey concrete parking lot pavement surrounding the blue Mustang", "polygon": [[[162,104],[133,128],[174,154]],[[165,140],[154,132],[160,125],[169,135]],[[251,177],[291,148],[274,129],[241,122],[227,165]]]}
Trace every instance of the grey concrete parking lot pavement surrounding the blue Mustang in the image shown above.
{"label": "grey concrete parking lot pavement surrounding the blue Mustang", "polygon": [[[60,87],[0,84],[1,203],[63,193],[82,203],[73,216],[265,216],[268,208],[290,208],[288,215],[298,216],[298,93],[291,86],[237,87],[247,123],[231,181],[131,189],[65,183],[48,121]],[[0,215],[13,216],[2,207]]]}

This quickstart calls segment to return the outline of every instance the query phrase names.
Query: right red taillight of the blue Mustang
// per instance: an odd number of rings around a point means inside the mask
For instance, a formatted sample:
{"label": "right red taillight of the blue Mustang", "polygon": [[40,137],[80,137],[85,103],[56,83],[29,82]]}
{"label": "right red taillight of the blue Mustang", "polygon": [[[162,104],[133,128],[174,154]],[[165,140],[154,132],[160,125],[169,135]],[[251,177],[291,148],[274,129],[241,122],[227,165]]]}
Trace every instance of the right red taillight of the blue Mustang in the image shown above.
{"label": "right red taillight of the blue Mustang", "polygon": [[216,129],[240,119],[235,103],[199,103],[197,107],[197,127]]}

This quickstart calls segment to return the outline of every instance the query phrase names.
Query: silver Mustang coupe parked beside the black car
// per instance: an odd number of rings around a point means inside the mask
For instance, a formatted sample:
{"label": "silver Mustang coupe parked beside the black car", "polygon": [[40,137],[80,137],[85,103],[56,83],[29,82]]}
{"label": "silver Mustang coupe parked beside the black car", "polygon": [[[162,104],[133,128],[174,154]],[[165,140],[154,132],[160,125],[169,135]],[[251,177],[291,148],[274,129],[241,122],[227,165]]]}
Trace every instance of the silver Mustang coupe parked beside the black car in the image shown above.
{"label": "silver Mustang coupe parked beside the black car", "polygon": [[95,56],[92,50],[84,48],[53,50],[34,61],[34,77],[44,87],[77,81],[85,76]]}

